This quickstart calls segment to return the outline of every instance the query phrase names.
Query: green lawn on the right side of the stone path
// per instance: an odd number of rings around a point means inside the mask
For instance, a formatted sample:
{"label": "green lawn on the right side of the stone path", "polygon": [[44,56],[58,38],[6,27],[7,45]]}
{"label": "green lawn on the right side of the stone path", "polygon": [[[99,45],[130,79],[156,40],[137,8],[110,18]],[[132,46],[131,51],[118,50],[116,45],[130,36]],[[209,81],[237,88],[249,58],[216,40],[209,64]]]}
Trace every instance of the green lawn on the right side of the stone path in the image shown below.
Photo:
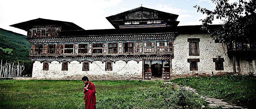
{"label": "green lawn on the right side of the stone path", "polygon": [[240,106],[256,108],[256,77],[225,75],[178,78],[174,83],[190,86],[198,93],[224,99]]}

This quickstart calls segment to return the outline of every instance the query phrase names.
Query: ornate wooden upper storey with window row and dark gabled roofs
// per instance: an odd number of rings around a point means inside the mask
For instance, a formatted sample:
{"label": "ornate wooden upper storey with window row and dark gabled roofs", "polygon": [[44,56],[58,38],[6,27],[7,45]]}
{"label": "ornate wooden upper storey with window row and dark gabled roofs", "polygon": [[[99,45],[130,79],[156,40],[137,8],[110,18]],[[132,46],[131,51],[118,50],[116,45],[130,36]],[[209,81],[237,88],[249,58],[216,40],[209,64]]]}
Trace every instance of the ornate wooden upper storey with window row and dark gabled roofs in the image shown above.
{"label": "ornate wooden upper storey with window row and dark gabled roofs", "polygon": [[84,30],[71,22],[37,18],[11,26],[28,32],[32,59],[143,58],[169,60],[178,34],[206,33],[177,26],[178,15],[139,7],[107,17],[115,29]]}

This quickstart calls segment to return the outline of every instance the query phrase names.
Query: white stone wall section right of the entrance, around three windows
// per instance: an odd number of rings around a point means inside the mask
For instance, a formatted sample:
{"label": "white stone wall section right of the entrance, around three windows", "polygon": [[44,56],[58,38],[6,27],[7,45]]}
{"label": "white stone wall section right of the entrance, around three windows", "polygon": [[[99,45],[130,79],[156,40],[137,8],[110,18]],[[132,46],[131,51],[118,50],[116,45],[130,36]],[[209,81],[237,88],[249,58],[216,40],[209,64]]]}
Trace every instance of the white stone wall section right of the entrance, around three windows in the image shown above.
{"label": "white stone wall section right of the entrance, around three windows", "polygon": [[[188,38],[200,38],[199,56],[189,55]],[[215,70],[213,58],[224,58],[224,70]],[[199,58],[198,71],[190,71],[188,58]],[[172,59],[172,76],[221,75],[233,72],[232,57],[228,57],[226,46],[215,43],[208,34],[181,34],[174,40],[174,58]]]}

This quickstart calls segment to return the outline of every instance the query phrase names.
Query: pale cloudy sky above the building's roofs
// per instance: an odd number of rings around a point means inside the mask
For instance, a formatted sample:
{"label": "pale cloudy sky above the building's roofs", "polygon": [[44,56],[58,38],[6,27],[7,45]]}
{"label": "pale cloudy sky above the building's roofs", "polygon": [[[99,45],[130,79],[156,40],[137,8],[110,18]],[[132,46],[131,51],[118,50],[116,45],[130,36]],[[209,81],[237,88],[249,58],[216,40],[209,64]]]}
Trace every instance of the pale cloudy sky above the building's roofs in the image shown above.
{"label": "pale cloudy sky above the building's roofs", "polygon": [[[1,0],[0,28],[26,35],[9,25],[36,18],[68,21],[83,29],[114,28],[106,17],[140,7],[179,15],[179,26],[200,25],[205,18],[194,5],[213,9],[210,0]],[[214,24],[220,24],[214,21]]]}

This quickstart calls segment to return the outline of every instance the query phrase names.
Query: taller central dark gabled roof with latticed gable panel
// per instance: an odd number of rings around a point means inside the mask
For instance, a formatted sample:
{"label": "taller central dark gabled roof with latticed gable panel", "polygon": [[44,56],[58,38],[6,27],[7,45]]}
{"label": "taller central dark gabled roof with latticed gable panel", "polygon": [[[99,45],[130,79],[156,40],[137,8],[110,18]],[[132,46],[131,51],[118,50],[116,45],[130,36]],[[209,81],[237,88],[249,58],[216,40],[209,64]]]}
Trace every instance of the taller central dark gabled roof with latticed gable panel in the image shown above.
{"label": "taller central dark gabled roof with latticed gable panel", "polygon": [[[138,7],[138,8],[129,10],[129,11],[125,11],[125,12],[122,12],[122,13],[119,13],[119,14],[116,14],[116,15],[106,17],[106,19],[115,28],[118,28],[118,25],[120,24],[120,22],[123,23],[125,21],[133,21],[133,19],[128,19],[127,20],[126,15],[136,13],[136,12],[139,12],[139,11],[147,11],[147,12],[156,13],[158,17],[157,18],[152,18],[151,20],[168,20],[168,21],[175,22],[175,24],[177,24],[177,25],[179,23],[179,21],[176,21],[179,15],[166,13],[166,12],[162,12],[162,11],[158,11],[158,10],[154,10],[154,9],[145,8],[145,7]],[[143,20],[149,20],[149,19],[135,19],[135,20],[136,21],[143,21]]]}

